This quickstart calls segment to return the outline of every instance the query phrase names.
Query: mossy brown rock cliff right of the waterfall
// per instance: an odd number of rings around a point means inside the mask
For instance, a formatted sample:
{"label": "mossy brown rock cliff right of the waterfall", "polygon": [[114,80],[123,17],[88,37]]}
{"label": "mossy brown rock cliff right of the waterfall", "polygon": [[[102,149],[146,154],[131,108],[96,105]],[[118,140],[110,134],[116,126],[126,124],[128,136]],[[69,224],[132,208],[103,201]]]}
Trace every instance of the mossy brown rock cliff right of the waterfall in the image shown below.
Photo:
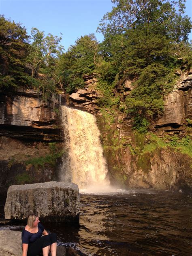
{"label": "mossy brown rock cliff right of the waterfall", "polygon": [[[132,130],[132,122],[124,113],[99,109],[96,79],[85,78],[85,90],[70,95],[68,105],[96,115],[111,182],[125,188],[179,190],[192,188],[192,160],[182,151],[182,143],[169,144],[166,136],[181,139],[191,135],[192,70],[179,73],[180,79],[165,99],[164,113],[151,124],[150,134],[143,136]],[[133,89],[132,81],[122,80],[116,87],[121,98]],[[89,95],[94,94],[94,99]],[[96,106],[96,107],[95,107]],[[155,136],[155,135],[154,135]],[[158,141],[162,137],[162,141]],[[163,140],[164,139],[164,140]],[[182,141],[182,140],[181,140]]]}

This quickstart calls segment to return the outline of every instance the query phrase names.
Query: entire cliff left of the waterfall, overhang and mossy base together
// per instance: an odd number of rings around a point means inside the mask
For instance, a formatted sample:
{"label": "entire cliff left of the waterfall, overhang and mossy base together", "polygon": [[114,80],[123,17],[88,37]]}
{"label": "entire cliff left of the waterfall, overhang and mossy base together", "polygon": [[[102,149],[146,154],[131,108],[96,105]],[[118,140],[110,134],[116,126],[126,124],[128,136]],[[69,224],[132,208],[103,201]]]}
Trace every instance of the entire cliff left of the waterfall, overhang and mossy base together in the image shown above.
{"label": "entire cliff left of the waterfall, overhang and mossy base together", "polygon": [[37,90],[0,94],[0,197],[12,184],[56,179],[62,154],[58,107]]}

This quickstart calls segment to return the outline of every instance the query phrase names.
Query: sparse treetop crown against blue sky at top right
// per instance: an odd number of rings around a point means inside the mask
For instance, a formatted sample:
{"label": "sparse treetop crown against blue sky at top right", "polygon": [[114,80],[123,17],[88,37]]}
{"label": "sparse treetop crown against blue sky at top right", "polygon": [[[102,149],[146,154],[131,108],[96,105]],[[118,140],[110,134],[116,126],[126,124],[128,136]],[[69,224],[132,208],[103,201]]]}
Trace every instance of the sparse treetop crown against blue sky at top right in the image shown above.
{"label": "sparse treetop crown against blue sky at top right", "polygon": [[116,6],[104,15],[98,30],[121,34],[138,25],[153,23],[173,40],[188,39],[190,18],[183,16],[186,0],[111,0]]}

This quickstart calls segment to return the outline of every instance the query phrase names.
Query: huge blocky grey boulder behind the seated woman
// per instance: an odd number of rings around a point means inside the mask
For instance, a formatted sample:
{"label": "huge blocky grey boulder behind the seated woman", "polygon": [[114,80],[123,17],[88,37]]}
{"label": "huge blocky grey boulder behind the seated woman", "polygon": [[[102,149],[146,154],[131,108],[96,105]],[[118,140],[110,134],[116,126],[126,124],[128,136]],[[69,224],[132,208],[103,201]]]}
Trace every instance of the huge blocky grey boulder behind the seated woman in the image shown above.
{"label": "huge blocky grey boulder behind the seated woman", "polygon": [[44,222],[79,222],[79,189],[74,183],[56,181],[12,185],[4,212],[8,220],[26,220],[36,212]]}

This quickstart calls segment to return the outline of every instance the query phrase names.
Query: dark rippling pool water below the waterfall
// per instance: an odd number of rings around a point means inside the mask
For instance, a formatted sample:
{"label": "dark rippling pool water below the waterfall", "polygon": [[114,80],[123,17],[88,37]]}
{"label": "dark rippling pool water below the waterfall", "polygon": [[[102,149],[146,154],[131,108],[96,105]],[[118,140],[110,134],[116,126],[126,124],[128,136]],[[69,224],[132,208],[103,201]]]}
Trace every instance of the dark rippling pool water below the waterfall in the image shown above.
{"label": "dark rippling pool water below the waterfall", "polygon": [[192,255],[192,194],[81,194],[80,226],[45,224],[81,255]]}

